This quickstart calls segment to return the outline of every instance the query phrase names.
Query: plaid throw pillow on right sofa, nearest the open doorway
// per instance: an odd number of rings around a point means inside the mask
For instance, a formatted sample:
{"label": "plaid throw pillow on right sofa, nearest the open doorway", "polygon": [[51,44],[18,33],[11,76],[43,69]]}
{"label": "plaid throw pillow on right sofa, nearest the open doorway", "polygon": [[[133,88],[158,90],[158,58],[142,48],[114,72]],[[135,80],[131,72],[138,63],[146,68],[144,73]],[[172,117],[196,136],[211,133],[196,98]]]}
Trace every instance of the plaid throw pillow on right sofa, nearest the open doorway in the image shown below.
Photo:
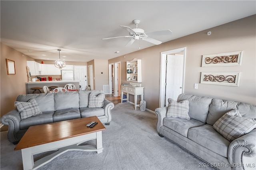
{"label": "plaid throw pillow on right sofa, nearest the open doorway", "polygon": [[188,115],[188,111],[189,111],[188,100],[182,100],[179,103],[177,103],[173,99],[168,99],[168,102],[169,104],[168,104],[166,117],[179,117],[182,119],[190,120],[190,117]]}

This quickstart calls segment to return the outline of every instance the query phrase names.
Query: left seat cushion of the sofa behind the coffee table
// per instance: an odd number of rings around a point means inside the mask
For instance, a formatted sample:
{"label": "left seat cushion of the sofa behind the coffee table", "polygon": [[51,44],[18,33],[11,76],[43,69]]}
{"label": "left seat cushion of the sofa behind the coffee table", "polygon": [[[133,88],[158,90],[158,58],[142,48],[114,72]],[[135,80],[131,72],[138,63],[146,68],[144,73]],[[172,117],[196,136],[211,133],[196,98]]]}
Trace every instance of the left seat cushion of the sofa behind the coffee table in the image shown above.
{"label": "left seat cushion of the sofa behind the coffee table", "polygon": [[40,115],[29,117],[20,121],[20,129],[28,129],[30,126],[52,123],[54,111],[46,111]]}

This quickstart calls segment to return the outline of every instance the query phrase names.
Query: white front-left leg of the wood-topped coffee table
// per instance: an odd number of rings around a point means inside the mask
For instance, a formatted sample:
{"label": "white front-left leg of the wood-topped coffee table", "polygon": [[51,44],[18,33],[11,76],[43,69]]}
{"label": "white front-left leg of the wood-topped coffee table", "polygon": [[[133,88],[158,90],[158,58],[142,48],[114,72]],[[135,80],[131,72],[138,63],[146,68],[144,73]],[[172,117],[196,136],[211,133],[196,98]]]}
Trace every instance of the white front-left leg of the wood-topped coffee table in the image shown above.
{"label": "white front-left leg of the wood-topped coffee table", "polygon": [[34,166],[34,157],[30,148],[25,148],[21,150],[22,153],[22,163],[24,170],[31,170]]}

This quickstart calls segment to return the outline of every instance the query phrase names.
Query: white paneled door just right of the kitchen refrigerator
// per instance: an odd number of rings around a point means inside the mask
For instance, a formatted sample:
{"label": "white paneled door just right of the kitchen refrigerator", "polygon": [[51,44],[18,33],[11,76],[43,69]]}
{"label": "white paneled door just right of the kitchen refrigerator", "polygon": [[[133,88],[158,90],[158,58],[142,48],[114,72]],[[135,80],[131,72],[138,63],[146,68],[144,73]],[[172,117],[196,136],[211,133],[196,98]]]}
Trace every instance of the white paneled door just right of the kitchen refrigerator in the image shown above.
{"label": "white paneled door just right of the kitchen refrigerator", "polygon": [[[79,81],[79,85],[82,90],[85,90],[87,86],[87,67],[86,66],[74,66],[74,80]],[[77,89],[79,87],[76,87]]]}

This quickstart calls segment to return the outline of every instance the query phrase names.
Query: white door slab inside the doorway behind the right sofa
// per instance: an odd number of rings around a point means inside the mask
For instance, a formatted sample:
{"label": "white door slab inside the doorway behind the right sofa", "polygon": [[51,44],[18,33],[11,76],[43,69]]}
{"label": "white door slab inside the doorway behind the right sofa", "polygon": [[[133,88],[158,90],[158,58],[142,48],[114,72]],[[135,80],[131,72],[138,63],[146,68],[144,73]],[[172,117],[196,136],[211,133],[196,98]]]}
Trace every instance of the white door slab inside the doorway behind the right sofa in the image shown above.
{"label": "white door slab inside the doorway behind the right sofa", "polygon": [[168,98],[177,100],[178,96],[182,94],[183,59],[183,55],[167,55],[165,97],[166,106],[168,106]]}

